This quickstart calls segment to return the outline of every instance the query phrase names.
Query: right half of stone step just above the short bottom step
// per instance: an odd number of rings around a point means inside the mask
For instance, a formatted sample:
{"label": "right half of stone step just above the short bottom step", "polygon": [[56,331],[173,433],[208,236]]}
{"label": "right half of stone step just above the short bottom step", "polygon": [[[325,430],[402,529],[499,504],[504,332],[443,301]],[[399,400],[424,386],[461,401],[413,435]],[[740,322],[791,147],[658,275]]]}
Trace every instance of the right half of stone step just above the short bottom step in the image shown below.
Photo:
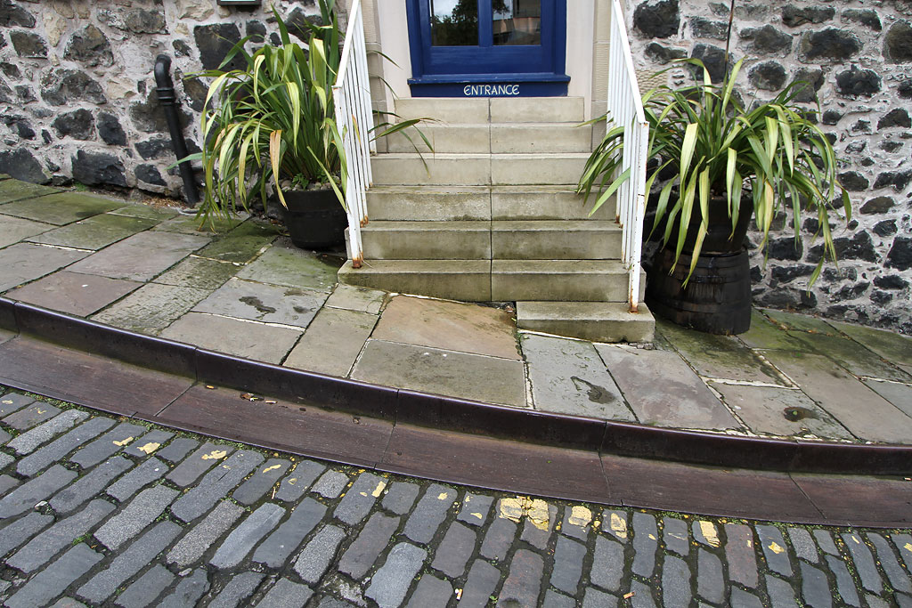
{"label": "right half of stone step just above the short bottom step", "polygon": [[627,270],[615,260],[493,260],[494,302],[626,302]]}

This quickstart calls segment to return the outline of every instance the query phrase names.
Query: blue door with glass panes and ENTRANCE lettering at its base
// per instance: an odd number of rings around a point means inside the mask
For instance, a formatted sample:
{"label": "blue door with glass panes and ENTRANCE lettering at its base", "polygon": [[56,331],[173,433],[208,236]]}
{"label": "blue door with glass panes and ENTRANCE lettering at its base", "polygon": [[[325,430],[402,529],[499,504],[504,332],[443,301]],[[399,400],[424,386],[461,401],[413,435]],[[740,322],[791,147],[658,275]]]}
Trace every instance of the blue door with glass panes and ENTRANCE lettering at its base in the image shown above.
{"label": "blue door with glass panes and ENTRANCE lettering at its base", "polygon": [[566,95],[566,0],[407,0],[413,97]]}

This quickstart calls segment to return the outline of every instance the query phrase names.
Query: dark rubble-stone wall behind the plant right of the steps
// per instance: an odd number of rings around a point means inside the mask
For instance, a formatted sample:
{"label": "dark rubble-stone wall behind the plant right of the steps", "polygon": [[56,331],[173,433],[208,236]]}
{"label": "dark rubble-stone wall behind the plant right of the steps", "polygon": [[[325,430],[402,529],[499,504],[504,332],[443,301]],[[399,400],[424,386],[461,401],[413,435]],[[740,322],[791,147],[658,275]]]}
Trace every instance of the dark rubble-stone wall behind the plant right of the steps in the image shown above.
{"label": "dark rubble-stone wall behind the plant right of the steps", "polygon": [[[721,75],[729,2],[628,0],[627,8],[643,77],[656,82],[650,76],[676,57],[701,57]],[[828,266],[810,294],[822,246],[805,239],[796,248],[783,214],[765,267],[763,252],[753,253],[755,302],[912,334],[912,1],[738,0],[735,15],[731,52],[745,59],[742,97],[751,103],[793,80],[812,83],[854,209],[847,228],[834,224],[839,270]],[[667,77],[689,82],[683,69]],[[801,220],[804,236],[816,227]],[[757,233],[751,239],[760,242]]]}

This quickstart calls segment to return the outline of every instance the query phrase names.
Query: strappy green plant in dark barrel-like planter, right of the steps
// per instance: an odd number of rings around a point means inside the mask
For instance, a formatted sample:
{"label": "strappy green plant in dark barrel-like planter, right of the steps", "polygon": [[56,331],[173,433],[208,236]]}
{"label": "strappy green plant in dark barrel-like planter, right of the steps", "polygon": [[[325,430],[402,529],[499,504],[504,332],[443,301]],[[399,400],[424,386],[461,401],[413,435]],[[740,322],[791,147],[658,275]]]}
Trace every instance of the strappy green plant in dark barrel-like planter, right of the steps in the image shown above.
{"label": "strappy green plant in dark barrel-like planter, right of the steps", "polygon": [[[783,208],[792,210],[796,242],[802,238],[802,214],[816,216],[814,237],[822,236],[824,256],[811,275],[813,284],[824,261],[835,261],[831,215],[841,207],[848,222],[852,210],[836,177],[832,144],[816,126],[814,112],[793,103],[804,83],[744,108],[734,93],[741,61],[718,85],[699,59],[680,61],[695,68],[696,84],[660,86],[643,99],[652,159],[646,189],[658,189],[650,234],[658,234],[660,242],[647,302],[680,325],[738,334],[751,322],[744,246],[751,217],[763,247]],[[602,191],[593,211],[627,180],[627,174],[616,175],[623,136],[623,127],[609,130],[586,163],[578,191],[586,199],[593,190]]]}

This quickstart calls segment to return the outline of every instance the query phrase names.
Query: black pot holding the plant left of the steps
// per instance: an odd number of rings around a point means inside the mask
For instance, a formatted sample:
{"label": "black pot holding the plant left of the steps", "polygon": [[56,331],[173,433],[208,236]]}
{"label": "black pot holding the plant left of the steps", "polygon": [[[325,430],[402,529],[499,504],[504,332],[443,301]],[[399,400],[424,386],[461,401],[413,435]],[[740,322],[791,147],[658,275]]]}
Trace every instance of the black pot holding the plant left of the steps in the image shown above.
{"label": "black pot holding the plant left of the steps", "polygon": [[[282,208],[291,241],[301,249],[329,249],[345,242],[348,218],[331,188],[284,191]],[[281,204],[281,203],[279,203]]]}

